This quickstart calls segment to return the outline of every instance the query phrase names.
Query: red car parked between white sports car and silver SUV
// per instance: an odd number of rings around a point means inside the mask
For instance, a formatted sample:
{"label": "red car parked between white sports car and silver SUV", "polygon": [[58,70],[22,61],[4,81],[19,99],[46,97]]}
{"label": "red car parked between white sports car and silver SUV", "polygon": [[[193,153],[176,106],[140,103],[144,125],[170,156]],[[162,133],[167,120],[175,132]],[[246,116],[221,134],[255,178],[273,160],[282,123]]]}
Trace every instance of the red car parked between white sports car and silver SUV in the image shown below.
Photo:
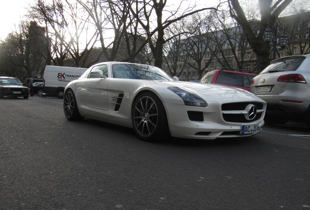
{"label": "red car parked between white sports car and silver SUV", "polygon": [[220,69],[209,71],[200,79],[200,82],[230,86],[250,91],[250,83],[255,76],[257,76],[257,74],[251,71]]}

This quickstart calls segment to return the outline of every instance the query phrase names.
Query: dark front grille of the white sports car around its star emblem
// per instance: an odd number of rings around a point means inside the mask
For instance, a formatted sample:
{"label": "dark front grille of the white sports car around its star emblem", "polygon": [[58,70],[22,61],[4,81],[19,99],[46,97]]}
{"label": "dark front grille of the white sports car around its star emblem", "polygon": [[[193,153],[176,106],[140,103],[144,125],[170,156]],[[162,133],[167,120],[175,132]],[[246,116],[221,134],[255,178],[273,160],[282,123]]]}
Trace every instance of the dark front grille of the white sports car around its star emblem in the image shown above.
{"label": "dark front grille of the white sports car around its star emblem", "polygon": [[[252,120],[247,120],[245,116],[248,115],[248,112],[245,110],[247,105],[252,104],[256,106],[257,113]],[[263,104],[261,103],[252,103],[252,102],[240,102],[240,103],[230,103],[223,104],[222,111],[232,112],[232,113],[222,113],[223,119],[226,122],[230,123],[251,123],[259,120],[263,114]]]}

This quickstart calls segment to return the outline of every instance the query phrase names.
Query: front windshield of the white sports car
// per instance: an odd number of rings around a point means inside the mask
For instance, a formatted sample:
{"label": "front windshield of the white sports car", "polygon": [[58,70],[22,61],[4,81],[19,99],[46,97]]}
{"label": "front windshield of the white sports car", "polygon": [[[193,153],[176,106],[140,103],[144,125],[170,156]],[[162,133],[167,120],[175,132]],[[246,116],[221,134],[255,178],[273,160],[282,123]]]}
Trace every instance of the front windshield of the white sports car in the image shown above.
{"label": "front windshield of the white sports car", "polygon": [[173,79],[163,70],[142,64],[113,64],[113,78],[143,79],[143,80],[169,80]]}

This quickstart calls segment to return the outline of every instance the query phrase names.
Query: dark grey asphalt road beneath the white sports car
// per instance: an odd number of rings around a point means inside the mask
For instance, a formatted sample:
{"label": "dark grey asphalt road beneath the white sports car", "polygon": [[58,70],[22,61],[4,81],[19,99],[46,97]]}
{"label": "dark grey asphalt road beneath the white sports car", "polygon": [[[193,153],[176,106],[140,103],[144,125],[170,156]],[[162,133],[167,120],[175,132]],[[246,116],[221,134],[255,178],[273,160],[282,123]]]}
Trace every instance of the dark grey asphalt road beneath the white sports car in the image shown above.
{"label": "dark grey asphalt road beneath the white sports car", "polygon": [[0,100],[1,210],[310,210],[310,136],[139,140],[69,122],[58,98]]}

